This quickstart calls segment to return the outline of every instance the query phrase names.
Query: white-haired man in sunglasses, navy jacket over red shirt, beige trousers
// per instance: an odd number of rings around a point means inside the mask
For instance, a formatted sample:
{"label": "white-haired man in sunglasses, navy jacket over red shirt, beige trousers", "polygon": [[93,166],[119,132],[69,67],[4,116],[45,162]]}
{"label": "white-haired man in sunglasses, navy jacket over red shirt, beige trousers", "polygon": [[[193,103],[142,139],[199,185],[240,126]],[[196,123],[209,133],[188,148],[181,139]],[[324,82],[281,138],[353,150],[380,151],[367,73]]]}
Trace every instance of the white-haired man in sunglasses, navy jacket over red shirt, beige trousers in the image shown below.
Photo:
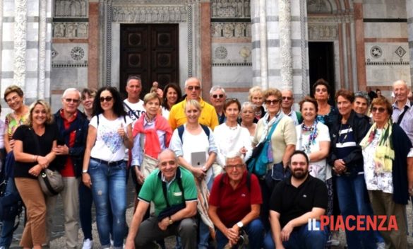
{"label": "white-haired man in sunglasses, navy jacket over red shirt, beige trousers", "polygon": [[[78,107],[80,105],[80,91],[68,88],[61,97],[63,108],[54,115],[59,130],[54,163],[61,166],[64,190],[60,193],[64,207],[64,231],[66,248],[76,248],[78,245],[79,219],[79,183],[82,174],[83,154],[85,153],[86,137],[88,137],[88,119]],[[50,233],[52,226],[52,212],[56,205],[56,196],[47,198],[47,228]],[[81,201],[81,200],[80,200]],[[84,248],[92,248],[92,242],[87,241]]]}

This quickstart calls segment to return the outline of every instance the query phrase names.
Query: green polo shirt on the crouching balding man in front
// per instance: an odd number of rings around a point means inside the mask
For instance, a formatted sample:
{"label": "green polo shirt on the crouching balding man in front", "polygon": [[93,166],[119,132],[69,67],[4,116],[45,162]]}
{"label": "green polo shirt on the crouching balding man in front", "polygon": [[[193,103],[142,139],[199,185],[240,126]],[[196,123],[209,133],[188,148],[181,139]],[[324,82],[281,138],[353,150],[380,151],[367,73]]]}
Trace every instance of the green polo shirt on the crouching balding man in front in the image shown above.
{"label": "green polo shirt on the crouching balding man in front", "polygon": [[[178,185],[178,178],[181,178],[184,193]],[[182,195],[186,202],[196,202],[198,193],[196,192],[195,180],[191,172],[185,168],[176,168],[176,175],[171,183],[167,183],[167,197],[171,206],[182,203]],[[138,199],[143,202],[153,202],[155,204],[155,216],[167,208],[167,202],[162,191],[162,172],[159,168],[153,170],[140,189]]]}

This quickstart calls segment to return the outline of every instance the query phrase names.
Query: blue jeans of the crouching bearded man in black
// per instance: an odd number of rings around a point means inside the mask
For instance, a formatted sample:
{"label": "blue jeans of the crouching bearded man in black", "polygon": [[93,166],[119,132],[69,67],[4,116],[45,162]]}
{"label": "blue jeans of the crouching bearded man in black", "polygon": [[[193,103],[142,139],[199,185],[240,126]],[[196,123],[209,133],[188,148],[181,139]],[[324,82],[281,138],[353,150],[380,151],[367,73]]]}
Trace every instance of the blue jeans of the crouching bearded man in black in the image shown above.
{"label": "blue jeans of the crouching bearded man in black", "polygon": [[[321,227],[320,221],[316,221],[316,227]],[[322,249],[327,243],[328,229],[323,231],[309,231],[309,224],[300,226],[298,231],[292,231],[289,235],[289,240],[282,242],[286,249]],[[275,243],[271,236],[271,231],[265,235],[264,249],[274,249]]]}

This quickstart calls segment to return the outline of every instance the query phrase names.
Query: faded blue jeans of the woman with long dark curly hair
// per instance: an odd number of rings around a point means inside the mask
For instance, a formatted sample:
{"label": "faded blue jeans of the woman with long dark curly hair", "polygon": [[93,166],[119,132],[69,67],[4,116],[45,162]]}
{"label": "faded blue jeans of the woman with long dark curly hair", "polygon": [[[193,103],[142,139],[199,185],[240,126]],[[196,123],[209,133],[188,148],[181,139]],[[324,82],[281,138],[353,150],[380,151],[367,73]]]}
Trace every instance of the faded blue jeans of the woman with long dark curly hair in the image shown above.
{"label": "faded blue jeans of the woman with long dark curly hair", "polygon": [[126,163],[108,166],[90,158],[89,174],[100,244],[102,248],[109,248],[112,227],[114,248],[122,248],[126,226]]}

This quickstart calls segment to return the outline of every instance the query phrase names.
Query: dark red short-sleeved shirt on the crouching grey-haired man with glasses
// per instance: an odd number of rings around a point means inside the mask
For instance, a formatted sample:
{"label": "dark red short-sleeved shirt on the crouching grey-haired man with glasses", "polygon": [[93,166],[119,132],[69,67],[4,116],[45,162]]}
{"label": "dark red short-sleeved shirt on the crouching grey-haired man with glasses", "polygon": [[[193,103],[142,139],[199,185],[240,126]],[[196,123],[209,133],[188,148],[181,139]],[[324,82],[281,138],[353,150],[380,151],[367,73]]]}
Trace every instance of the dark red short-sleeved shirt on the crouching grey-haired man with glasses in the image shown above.
{"label": "dark red short-sleeved shirt on the crouching grey-haired man with glasses", "polygon": [[[241,221],[246,214],[251,212],[252,204],[262,204],[261,188],[256,175],[251,174],[251,190],[246,185],[244,173],[241,183],[234,190],[229,185],[227,174],[218,175],[210,192],[209,204],[217,207],[217,214],[225,226],[234,226]],[[224,177],[221,183],[221,178]]]}

